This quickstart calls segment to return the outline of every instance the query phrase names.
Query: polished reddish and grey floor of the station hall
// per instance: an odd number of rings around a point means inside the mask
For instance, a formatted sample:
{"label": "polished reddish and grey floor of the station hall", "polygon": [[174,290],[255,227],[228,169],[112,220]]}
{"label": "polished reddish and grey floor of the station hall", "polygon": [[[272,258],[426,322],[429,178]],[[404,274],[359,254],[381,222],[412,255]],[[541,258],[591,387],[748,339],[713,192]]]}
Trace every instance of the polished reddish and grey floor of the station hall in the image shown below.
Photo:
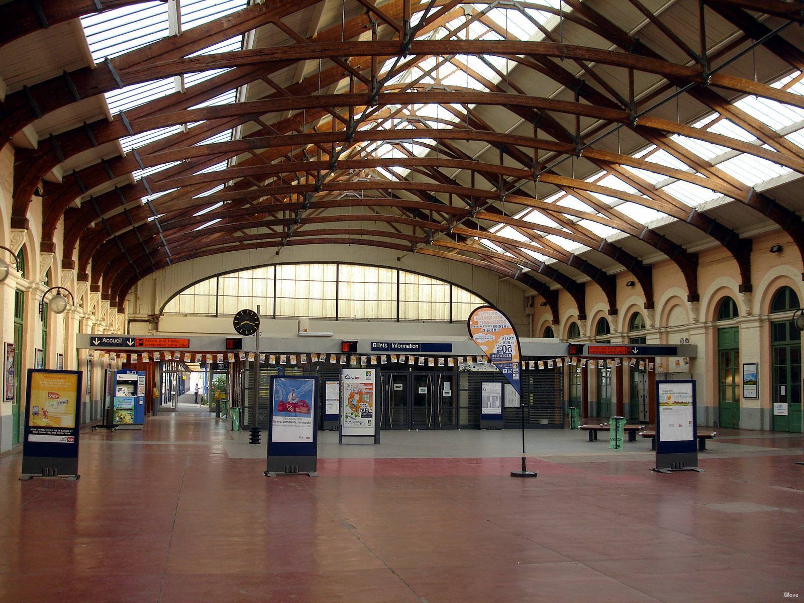
{"label": "polished reddish and grey floor of the station hall", "polygon": [[265,478],[192,406],[82,433],[78,482],[0,456],[0,601],[804,598],[800,436],[722,430],[706,473],[662,475],[650,441],[538,430],[523,480],[515,432],[326,433],[320,477]]}

